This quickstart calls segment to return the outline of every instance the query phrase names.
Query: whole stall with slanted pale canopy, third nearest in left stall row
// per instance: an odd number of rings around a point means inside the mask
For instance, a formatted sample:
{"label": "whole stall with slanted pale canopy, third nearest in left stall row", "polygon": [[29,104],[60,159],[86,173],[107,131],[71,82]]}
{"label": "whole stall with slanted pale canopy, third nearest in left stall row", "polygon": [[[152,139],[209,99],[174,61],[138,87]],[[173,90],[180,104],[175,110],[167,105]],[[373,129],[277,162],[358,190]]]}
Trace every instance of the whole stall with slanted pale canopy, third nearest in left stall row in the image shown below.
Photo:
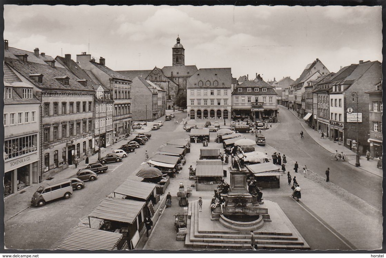
{"label": "whole stall with slanted pale canopy, third nearest in left stall row", "polygon": [[156,185],[152,183],[141,182],[133,179],[127,179],[117,189],[113,191],[114,197],[122,197],[128,200],[142,201],[153,205],[159,200],[156,193]]}

